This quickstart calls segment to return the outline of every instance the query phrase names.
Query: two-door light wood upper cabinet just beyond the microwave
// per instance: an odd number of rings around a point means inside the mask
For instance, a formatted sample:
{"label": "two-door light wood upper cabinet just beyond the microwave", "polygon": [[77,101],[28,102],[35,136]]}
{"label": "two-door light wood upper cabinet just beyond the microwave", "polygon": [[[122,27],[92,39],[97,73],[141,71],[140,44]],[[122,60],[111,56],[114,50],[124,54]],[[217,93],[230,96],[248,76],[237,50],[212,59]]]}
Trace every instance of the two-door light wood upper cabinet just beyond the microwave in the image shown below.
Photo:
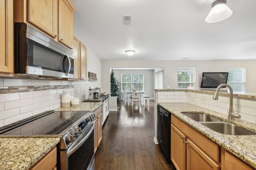
{"label": "two-door light wood upper cabinet just beyond the microwave", "polygon": [[82,81],[88,79],[87,73],[87,47],[76,36],[73,37],[73,51],[74,51],[74,78],[73,81]]}

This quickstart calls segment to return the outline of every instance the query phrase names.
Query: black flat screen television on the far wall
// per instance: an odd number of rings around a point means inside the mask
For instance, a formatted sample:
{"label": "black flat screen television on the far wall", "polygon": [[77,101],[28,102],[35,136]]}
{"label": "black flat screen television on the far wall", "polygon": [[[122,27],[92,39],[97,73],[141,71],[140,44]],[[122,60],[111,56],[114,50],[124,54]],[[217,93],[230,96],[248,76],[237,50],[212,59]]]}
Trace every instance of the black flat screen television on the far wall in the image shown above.
{"label": "black flat screen television on the far wall", "polygon": [[217,88],[228,82],[228,72],[203,72],[201,88]]}

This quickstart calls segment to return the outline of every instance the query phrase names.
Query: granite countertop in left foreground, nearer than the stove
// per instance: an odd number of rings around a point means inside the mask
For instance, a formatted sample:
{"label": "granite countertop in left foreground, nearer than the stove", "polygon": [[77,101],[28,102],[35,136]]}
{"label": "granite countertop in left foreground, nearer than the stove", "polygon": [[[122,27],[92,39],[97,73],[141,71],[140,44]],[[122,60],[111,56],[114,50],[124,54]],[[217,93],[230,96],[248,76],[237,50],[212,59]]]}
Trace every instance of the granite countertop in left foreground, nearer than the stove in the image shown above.
{"label": "granite countertop in left foreground, nearer than the stove", "polygon": [[0,169],[28,170],[60,142],[60,138],[0,138]]}

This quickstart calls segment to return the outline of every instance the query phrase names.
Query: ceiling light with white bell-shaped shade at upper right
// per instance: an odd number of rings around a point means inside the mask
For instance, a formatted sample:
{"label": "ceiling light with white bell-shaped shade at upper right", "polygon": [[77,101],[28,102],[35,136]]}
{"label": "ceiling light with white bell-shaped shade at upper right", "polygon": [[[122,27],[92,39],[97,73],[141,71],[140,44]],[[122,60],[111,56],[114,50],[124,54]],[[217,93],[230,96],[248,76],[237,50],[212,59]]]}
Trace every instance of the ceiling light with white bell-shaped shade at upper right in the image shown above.
{"label": "ceiling light with white bell-shaped shade at upper right", "polygon": [[232,11],[226,5],[226,0],[213,0],[212,1],[212,10],[206,17],[205,21],[208,23],[214,23],[226,20],[232,15]]}

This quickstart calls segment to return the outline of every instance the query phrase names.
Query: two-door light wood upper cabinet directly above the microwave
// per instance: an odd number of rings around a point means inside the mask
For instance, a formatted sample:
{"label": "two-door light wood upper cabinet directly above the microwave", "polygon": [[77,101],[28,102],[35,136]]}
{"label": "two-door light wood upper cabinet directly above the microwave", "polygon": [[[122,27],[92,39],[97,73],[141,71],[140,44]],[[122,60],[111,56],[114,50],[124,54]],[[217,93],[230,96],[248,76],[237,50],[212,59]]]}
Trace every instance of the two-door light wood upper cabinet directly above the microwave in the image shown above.
{"label": "two-door light wood upper cabinet directly above the microwave", "polygon": [[72,49],[76,7],[71,0],[15,0],[14,22],[25,22]]}

